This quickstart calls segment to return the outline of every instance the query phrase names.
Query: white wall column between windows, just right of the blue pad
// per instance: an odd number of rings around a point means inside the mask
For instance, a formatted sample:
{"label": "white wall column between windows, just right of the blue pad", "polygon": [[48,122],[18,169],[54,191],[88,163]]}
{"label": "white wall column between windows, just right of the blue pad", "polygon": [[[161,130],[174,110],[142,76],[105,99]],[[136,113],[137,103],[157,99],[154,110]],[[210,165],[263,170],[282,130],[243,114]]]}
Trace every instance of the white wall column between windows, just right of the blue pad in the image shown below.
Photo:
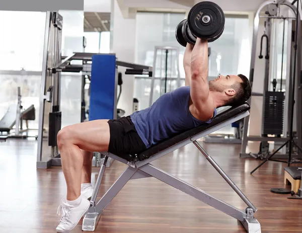
{"label": "white wall column between windows, just right of the blue pad", "polygon": [[[124,19],[117,0],[112,0],[111,16],[111,52],[116,53],[118,60],[134,62],[135,59],[135,15]],[[117,108],[125,110],[125,115],[132,113],[134,76],[124,74],[125,69],[118,67],[123,75],[122,95]]]}

